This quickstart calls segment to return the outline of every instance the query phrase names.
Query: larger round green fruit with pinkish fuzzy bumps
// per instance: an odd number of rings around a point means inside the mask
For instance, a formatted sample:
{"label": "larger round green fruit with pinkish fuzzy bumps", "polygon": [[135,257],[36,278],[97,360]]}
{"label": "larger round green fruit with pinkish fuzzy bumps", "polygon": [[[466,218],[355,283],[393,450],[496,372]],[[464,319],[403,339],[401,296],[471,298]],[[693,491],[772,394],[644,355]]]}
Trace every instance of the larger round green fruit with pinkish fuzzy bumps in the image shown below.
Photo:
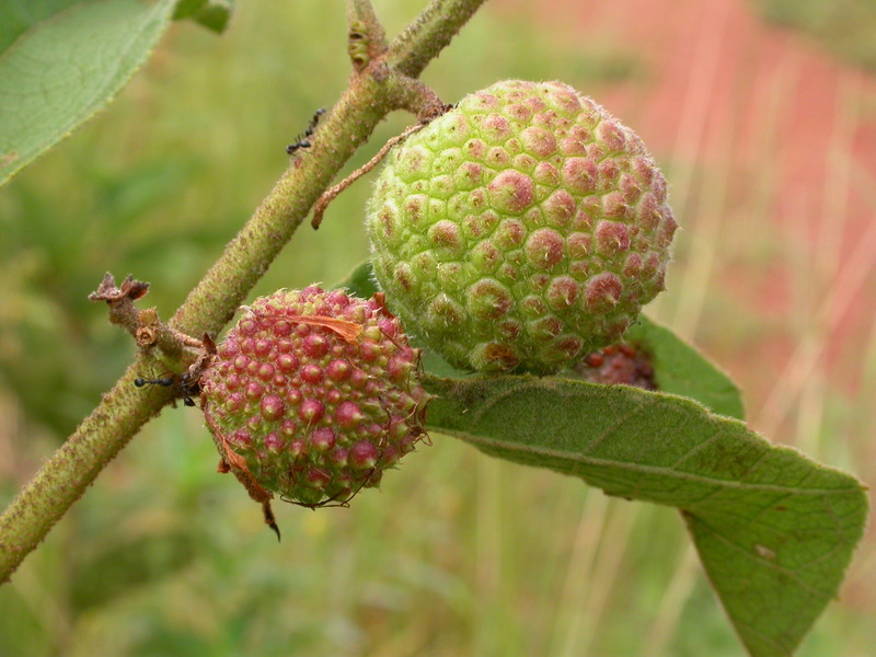
{"label": "larger round green fruit with pinkish fuzzy bumps", "polygon": [[676,228],[642,140],[561,82],[464,97],[393,150],[367,211],[392,311],[479,371],[616,342],[664,289]]}

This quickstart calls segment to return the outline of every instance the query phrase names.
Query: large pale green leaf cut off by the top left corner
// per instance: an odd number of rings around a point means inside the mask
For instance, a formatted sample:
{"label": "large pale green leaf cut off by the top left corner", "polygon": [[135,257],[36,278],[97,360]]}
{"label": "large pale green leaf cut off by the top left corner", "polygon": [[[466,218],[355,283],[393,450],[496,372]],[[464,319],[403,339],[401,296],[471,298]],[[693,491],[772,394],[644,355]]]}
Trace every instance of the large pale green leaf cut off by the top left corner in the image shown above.
{"label": "large pale green leaf cut off by the top left corner", "polygon": [[0,185],[110,102],[146,61],[173,7],[0,2]]}

